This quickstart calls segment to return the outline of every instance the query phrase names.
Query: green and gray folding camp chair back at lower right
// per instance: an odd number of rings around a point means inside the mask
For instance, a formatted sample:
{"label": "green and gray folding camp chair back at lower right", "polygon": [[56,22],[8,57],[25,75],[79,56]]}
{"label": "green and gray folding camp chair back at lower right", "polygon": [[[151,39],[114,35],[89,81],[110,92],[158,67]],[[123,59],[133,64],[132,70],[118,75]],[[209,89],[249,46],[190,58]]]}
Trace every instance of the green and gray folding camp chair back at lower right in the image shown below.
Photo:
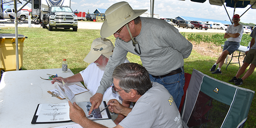
{"label": "green and gray folding camp chair back at lower right", "polygon": [[[199,106],[198,103],[202,101],[200,99],[200,93],[204,93],[212,100],[228,106],[227,113],[221,113],[224,117],[220,128],[239,128],[247,119],[255,92],[219,81],[194,69],[189,81],[189,87],[186,91],[186,99],[182,112],[182,119],[187,124],[192,117],[197,117],[198,113],[205,113],[201,111],[209,110],[208,108],[197,108]],[[200,115],[200,118],[202,116],[204,115]]]}

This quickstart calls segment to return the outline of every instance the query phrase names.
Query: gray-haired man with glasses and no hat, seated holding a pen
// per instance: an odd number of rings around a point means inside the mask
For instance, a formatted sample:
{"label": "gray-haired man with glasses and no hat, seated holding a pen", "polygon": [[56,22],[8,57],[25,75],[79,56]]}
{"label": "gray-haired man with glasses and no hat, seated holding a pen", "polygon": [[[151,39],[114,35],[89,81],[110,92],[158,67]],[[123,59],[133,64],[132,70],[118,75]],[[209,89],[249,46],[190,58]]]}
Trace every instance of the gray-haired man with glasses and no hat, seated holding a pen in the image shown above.
{"label": "gray-haired man with glasses and no hat, seated holding a pen", "polygon": [[[111,99],[108,108],[111,112],[126,116],[114,128],[183,128],[180,113],[173,97],[166,88],[151,82],[148,71],[136,63],[120,64],[113,71],[113,93],[123,100],[136,102],[134,108],[127,108]],[[69,102],[70,119],[83,128],[106,128],[91,121],[74,102]]]}

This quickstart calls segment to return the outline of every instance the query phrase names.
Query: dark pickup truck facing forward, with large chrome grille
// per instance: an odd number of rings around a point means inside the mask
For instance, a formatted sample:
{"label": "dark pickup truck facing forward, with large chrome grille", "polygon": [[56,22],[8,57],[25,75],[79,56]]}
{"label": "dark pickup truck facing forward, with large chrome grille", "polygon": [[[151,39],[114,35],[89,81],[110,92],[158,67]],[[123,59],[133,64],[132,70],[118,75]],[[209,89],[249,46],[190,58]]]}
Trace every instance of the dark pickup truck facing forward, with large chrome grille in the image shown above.
{"label": "dark pickup truck facing forward, with large chrome grille", "polygon": [[51,6],[47,14],[43,15],[43,28],[48,27],[49,31],[52,31],[52,28],[64,28],[70,29],[73,28],[73,31],[77,31],[77,16],[69,6]]}

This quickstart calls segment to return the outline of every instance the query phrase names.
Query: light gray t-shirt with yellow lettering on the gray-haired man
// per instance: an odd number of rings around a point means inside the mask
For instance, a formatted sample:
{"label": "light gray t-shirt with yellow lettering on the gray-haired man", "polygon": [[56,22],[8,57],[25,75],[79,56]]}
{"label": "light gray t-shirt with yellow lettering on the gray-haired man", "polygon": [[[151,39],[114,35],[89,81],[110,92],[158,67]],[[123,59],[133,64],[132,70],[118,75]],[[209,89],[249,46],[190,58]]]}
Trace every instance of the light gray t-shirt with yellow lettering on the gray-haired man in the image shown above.
{"label": "light gray t-shirt with yellow lettering on the gray-haired man", "polygon": [[124,128],[183,128],[180,113],[166,88],[156,82],[119,123]]}

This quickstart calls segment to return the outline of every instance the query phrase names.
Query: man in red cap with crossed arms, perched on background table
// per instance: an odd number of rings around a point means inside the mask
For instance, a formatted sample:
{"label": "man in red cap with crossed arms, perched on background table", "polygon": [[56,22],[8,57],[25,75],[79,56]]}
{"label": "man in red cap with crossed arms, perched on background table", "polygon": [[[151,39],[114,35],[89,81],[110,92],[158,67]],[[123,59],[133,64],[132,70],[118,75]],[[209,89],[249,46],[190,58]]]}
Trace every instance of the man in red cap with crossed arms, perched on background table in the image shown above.
{"label": "man in red cap with crossed arms, perched on background table", "polygon": [[[232,20],[234,24],[232,24],[227,28],[227,31],[224,35],[224,38],[227,38],[227,41],[225,41],[222,53],[219,56],[216,63],[213,64],[212,68],[210,69],[212,74],[221,74],[221,67],[224,64],[224,61],[227,55],[228,54],[231,55],[240,47],[240,42],[244,33],[244,28],[243,28],[243,25],[239,24],[239,21],[240,21],[239,15],[237,14],[234,15]],[[218,69],[215,71],[215,68],[218,64],[219,64]]]}

